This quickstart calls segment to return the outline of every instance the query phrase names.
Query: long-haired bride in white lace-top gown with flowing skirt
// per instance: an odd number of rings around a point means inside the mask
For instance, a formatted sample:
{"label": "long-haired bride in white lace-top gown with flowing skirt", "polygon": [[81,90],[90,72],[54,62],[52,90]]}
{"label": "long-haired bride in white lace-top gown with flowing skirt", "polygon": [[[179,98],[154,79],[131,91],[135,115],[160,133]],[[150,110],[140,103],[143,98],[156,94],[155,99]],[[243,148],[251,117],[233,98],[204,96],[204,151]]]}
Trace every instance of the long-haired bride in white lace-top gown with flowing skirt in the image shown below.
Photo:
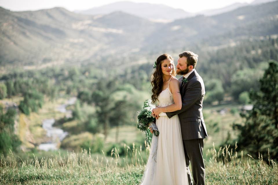
{"label": "long-haired bride in white lace-top gown with flowing skirt", "polygon": [[[150,154],[141,185],[188,185],[180,120],[178,115],[169,119],[165,113],[182,108],[180,83],[175,75],[173,58],[168,54],[160,55],[151,77],[151,99],[162,110],[156,120],[157,153],[156,159]],[[151,144],[151,153],[154,145]]]}

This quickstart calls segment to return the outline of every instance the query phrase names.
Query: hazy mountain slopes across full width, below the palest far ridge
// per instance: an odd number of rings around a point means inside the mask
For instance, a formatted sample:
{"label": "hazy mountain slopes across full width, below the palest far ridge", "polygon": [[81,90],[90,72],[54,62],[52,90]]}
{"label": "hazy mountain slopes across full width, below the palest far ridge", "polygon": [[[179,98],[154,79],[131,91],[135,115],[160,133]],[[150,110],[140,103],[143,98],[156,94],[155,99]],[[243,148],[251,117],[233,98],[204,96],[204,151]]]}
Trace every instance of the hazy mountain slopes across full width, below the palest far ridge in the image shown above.
{"label": "hazy mountain slopes across full width, below the palest far ridge", "polygon": [[[125,12],[84,15],[64,8],[0,8],[0,66],[131,65],[192,45],[218,47],[278,34],[278,1],[154,23]],[[131,62],[131,63],[129,63]]]}

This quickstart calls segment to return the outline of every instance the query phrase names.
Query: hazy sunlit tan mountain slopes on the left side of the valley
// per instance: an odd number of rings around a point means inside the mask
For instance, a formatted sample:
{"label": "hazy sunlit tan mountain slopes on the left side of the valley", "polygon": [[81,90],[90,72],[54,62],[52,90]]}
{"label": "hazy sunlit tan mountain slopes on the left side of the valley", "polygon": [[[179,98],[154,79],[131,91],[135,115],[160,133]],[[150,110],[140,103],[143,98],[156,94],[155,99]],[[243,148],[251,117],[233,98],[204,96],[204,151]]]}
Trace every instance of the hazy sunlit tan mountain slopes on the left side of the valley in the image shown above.
{"label": "hazy sunlit tan mountain slopes on the left side of the valley", "polygon": [[123,12],[95,17],[64,8],[26,12],[0,8],[0,63],[84,61],[96,53],[106,55],[107,49],[111,53],[141,46],[156,25]]}

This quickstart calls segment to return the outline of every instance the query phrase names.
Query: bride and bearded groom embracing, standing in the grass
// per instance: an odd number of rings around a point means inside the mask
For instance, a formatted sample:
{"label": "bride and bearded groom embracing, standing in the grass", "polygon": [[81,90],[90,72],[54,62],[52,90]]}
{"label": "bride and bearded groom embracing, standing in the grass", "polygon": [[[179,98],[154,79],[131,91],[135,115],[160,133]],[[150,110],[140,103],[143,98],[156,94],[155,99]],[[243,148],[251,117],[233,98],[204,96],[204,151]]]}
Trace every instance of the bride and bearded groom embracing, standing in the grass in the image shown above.
{"label": "bride and bearded groom embracing, standing in the grass", "polygon": [[[205,88],[195,70],[197,59],[191,51],[180,53],[177,71],[170,55],[162,54],[156,60],[151,99],[158,103],[152,114],[160,134],[156,159],[149,156],[141,185],[205,184],[203,139],[208,136],[202,114]],[[176,74],[183,77],[177,79]],[[151,151],[153,148],[151,144]]]}

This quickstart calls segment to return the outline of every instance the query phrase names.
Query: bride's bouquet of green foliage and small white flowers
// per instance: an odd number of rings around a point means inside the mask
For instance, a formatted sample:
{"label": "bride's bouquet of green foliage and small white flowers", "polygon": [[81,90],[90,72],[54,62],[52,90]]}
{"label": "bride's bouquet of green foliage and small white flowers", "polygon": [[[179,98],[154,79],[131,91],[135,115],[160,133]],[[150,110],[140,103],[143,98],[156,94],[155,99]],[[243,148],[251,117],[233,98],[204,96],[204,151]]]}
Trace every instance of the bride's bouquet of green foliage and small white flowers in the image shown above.
{"label": "bride's bouquet of green foliage and small white flowers", "polygon": [[151,111],[156,108],[155,105],[151,103],[150,99],[145,100],[143,109],[140,111],[138,115],[138,125],[137,128],[145,132],[146,137],[150,139],[150,131],[149,127],[152,128],[153,134],[155,136],[159,135],[158,128],[156,124],[153,122],[155,118],[152,116]]}

